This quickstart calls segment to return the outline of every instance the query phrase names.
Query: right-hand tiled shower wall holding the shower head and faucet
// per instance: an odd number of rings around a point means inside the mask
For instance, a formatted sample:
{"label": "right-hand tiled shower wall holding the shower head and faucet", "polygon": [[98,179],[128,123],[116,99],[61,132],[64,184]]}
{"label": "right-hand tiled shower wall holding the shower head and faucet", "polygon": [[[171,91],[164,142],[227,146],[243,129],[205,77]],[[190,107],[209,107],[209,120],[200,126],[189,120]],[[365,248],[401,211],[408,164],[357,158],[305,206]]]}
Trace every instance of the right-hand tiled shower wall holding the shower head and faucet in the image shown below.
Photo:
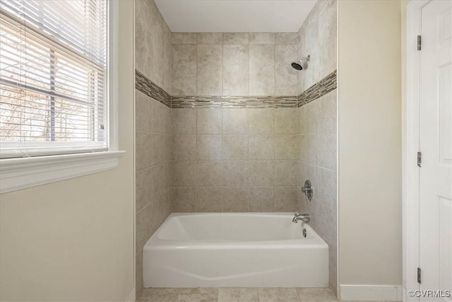
{"label": "right-hand tiled shower wall holding the shower head and faucet", "polygon": [[[299,74],[299,92],[337,69],[337,3],[318,1],[299,30],[299,56],[311,54],[309,69]],[[309,223],[328,243],[330,286],[337,291],[337,90],[297,108],[299,133],[298,211],[311,214]],[[311,180],[314,198],[301,192]]]}

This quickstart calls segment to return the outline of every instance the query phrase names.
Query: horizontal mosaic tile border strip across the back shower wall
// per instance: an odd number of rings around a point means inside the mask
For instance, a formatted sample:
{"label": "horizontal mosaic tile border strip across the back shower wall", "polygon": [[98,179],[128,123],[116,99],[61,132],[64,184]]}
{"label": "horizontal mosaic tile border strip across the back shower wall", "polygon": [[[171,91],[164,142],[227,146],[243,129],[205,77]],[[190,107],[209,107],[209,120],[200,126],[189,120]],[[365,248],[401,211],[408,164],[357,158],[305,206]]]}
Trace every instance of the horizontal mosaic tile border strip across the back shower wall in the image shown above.
{"label": "horizontal mosaic tile border strip across the back shower wall", "polygon": [[296,108],[296,96],[173,96],[171,108]]}

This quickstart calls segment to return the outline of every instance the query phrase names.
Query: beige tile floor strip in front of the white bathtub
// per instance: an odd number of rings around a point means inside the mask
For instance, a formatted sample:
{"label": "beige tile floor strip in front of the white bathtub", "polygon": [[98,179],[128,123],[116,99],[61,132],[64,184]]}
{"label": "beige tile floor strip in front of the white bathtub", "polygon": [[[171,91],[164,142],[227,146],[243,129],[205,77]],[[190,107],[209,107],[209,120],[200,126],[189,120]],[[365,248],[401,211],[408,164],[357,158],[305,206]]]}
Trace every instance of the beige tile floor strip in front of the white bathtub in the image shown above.
{"label": "beige tile floor strip in front of the white bathtub", "polygon": [[[331,289],[143,289],[137,302],[333,302]],[[367,301],[371,302],[371,301]]]}

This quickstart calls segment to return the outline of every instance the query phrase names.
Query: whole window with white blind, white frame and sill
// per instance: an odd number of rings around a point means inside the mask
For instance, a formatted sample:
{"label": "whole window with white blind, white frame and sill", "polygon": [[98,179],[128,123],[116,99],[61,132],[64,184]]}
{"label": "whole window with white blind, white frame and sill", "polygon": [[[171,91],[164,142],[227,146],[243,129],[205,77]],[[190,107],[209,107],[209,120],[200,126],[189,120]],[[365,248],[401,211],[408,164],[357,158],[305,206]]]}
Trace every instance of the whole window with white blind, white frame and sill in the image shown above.
{"label": "whole window with white blind, white frame and sill", "polygon": [[117,167],[118,16],[117,1],[0,1],[0,193]]}

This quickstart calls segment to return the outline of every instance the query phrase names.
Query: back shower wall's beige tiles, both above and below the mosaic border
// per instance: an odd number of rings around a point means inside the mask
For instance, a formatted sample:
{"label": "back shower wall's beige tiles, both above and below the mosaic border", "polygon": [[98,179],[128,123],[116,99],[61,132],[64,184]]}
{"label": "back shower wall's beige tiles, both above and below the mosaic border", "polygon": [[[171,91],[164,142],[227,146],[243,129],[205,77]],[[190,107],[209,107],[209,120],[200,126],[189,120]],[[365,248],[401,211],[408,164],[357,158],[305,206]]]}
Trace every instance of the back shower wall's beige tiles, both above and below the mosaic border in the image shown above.
{"label": "back shower wall's beige tiles, both above and below the mosaic border", "polygon": [[[295,100],[298,42],[297,33],[173,33],[172,94]],[[172,109],[172,211],[294,211],[295,107],[198,105]]]}

